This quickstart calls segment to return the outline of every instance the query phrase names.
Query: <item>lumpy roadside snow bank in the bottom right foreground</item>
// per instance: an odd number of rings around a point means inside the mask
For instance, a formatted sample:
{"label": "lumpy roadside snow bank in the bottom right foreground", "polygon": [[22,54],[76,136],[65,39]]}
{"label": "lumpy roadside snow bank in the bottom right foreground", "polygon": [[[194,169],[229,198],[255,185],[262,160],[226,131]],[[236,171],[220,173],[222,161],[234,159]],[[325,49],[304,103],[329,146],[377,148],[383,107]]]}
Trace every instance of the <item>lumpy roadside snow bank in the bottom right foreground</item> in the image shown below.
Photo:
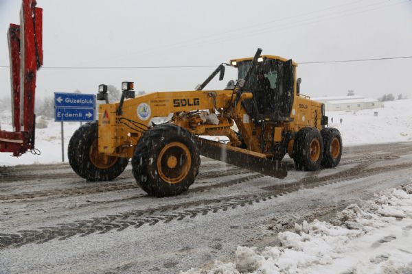
{"label": "lumpy roadside snow bank in the bottom right foreground", "polygon": [[335,225],[304,221],[278,238],[279,247],[238,247],[234,263],[181,274],[411,273],[412,185],[348,206]]}

